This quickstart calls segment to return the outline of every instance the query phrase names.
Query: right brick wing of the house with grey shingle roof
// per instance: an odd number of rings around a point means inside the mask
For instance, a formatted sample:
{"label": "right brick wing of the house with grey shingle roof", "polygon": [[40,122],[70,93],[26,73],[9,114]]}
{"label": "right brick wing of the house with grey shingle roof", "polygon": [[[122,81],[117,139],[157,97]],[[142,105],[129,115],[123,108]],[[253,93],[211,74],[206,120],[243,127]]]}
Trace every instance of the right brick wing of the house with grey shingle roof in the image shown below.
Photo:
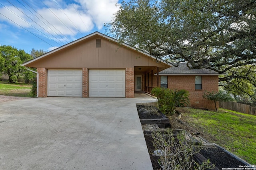
{"label": "right brick wing of the house with grey shingle roof", "polygon": [[[179,63],[178,67],[172,66],[158,73],[160,79],[158,86],[177,90],[185,89],[189,92],[190,107],[214,110],[214,102],[202,96],[205,91],[218,92],[219,75],[214,70],[189,69],[187,63]],[[149,84],[150,86],[157,86],[154,79],[156,80],[156,75],[153,76],[153,83]],[[146,81],[150,82],[150,80]]]}

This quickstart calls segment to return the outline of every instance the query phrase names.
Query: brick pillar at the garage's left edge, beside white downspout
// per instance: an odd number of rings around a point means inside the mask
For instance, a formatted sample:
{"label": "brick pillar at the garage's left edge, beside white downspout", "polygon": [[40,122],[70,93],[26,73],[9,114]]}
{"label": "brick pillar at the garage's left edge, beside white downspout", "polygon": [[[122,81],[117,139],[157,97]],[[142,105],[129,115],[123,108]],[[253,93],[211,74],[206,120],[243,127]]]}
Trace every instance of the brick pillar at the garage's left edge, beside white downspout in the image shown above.
{"label": "brick pillar at the garage's left edge, beside white downspout", "polygon": [[46,69],[37,68],[37,72],[39,74],[38,97],[45,98],[46,97]]}

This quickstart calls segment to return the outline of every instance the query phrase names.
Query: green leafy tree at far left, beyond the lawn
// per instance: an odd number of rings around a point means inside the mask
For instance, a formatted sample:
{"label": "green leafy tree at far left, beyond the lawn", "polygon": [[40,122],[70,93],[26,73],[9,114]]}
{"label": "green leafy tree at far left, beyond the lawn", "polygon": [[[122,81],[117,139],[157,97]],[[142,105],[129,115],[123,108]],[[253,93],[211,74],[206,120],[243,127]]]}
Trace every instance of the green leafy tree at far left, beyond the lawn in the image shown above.
{"label": "green leafy tree at far left, beyond the lawn", "polygon": [[9,82],[18,82],[19,76],[25,72],[25,68],[20,64],[31,59],[31,56],[24,50],[18,50],[10,45],[0,46],[0,53],[0,72],[8,74]]}

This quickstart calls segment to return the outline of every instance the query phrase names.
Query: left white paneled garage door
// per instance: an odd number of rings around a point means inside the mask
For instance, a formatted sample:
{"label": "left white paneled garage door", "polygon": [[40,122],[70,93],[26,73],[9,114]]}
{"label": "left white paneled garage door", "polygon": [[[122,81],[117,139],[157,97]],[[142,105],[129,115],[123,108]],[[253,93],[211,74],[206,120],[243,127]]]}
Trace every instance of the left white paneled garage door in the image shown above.
{"label": "left white paneled garage door", "polygon": [[82,70],[48,70],[47,96],[82,97]]}

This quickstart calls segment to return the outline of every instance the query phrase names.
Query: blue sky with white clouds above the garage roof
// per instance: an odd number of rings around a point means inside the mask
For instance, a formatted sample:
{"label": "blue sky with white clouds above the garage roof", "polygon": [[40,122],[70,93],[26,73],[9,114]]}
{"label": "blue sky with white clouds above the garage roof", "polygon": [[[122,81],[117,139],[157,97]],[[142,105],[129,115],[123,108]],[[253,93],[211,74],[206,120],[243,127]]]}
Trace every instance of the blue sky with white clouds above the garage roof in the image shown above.
{"label": "blue sky with white clouds above the garage roof", "polygon": [[0,45],[51,51],[95,31],[105,33],[121,0],[1,0]]}

